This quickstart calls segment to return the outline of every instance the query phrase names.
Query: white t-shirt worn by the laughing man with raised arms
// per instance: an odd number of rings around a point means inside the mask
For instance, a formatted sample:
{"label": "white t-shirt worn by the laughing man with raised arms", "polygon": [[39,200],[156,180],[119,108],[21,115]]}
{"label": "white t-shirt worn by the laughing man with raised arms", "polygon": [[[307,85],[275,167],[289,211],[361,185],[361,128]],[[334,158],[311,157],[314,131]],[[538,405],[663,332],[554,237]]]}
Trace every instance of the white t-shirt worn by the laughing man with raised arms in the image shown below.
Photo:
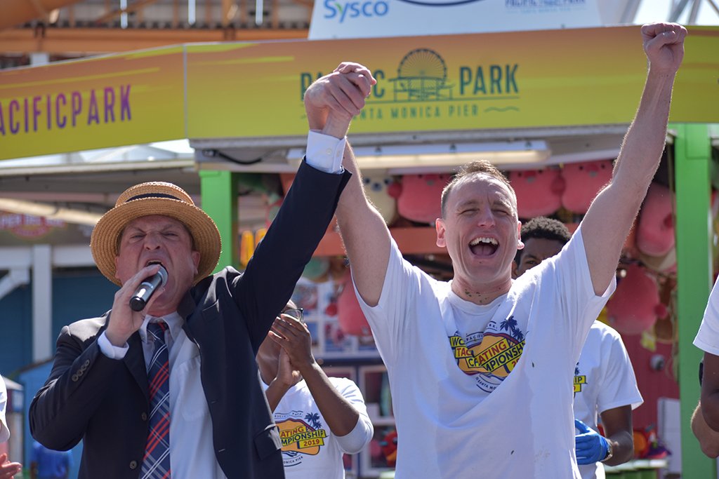
{"label": "white t-shirt worn by the laughing man with raised arms", "polygon": [[388,368],[397,479],[580,477],[574,366],[615,287],[594,293],[580,230],[484,306],[392,242],[379,304],[360,304]]}

